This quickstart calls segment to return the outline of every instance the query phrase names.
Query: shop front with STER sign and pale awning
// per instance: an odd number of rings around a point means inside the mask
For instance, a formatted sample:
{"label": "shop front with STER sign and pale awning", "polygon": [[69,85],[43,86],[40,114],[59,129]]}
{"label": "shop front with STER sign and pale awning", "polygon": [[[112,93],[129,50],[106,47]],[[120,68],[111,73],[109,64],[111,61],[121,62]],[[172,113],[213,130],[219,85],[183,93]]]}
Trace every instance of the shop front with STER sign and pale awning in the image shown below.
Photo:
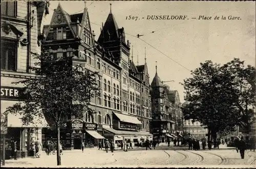
{"label": "shop front with STER sign and pale awning", "polygon": [[[26,97],[21,94],[23,92],[24,88],[1,86],[1,158],[3,157],[4,139],[6,159],[10,159],[12,156],[14,142],[16,142],[17,158],[34,156],[35,141],[37,138],[41,141],[41,130],[48,127],[45,118],[35,118],[33,122],[24,125],[20,119],[23,117],[22,115],[4,115],[8,107],[26,100]],[[2,117],[5,119],[3,120]],[[4,132],[2,125],[5,126]]]}

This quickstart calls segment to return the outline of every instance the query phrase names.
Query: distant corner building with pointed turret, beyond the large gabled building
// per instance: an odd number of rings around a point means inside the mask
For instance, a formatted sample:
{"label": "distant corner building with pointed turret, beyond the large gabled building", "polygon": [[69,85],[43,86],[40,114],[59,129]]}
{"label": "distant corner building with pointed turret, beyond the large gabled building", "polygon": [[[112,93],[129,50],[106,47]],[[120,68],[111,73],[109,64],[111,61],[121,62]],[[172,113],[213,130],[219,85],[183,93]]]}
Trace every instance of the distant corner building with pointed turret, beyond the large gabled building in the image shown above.
{"label": "distant corner building with pointed turret, beyond the large gabled building", "polygon": [[182,112],[178,91],[170,91],[156,74],[151,83],[152,123],[151,133],[162,143],[166,139],[182,137]]}

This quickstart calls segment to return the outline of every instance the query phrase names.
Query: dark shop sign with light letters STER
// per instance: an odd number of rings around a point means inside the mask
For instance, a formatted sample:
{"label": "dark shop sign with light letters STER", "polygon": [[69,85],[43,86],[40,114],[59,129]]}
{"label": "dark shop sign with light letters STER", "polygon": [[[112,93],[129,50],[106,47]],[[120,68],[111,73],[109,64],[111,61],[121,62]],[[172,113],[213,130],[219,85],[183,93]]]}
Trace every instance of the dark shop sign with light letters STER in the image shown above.
{"label": "dark shop sign with light letters STER", "polygon": [[1,87],[1,100],[26,100],[25,88]]}

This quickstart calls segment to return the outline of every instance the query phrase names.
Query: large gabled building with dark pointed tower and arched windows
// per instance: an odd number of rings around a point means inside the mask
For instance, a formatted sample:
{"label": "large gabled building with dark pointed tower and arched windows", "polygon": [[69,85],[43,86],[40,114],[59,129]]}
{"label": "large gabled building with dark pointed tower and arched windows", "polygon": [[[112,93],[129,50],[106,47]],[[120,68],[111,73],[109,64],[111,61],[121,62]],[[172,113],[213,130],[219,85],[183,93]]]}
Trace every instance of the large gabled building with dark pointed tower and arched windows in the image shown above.
{"label": "large gabled building with dark pointed tower and arched windows", "polygon": [[[132,62],[130,42],[125,39],[124,28],[117,26],[112,11],[97,41],[87,7],[83,13],[69,15],[58,4],[44,33],[44,47],[54,55],[73,55],[73,67],[99,72],[96,79],[101,96],[91,100],[96,114],[84,110],[82,121],[72,119],[72,123],[81,123],[80,128],[61,130],[63,148],[80,149],[82,140],[90,147],[104,138],[113,139],[116,146],[125,138],[134,143],[152,138],[147,65],[135,66]],[[51,137],[49,133],[45,131],[45,137]]]}

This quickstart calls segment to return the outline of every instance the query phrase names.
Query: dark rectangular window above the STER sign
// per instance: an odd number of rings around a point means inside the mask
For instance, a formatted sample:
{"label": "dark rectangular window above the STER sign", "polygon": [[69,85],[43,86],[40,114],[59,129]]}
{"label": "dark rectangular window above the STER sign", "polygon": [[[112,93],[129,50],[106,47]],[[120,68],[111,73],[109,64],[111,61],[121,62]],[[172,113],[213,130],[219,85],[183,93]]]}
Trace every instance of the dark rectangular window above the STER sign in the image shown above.
{"label": "dark rectangular window above the STER sign", "polygon": [[1,69],[16,71],[17,44],[1,40]]}

